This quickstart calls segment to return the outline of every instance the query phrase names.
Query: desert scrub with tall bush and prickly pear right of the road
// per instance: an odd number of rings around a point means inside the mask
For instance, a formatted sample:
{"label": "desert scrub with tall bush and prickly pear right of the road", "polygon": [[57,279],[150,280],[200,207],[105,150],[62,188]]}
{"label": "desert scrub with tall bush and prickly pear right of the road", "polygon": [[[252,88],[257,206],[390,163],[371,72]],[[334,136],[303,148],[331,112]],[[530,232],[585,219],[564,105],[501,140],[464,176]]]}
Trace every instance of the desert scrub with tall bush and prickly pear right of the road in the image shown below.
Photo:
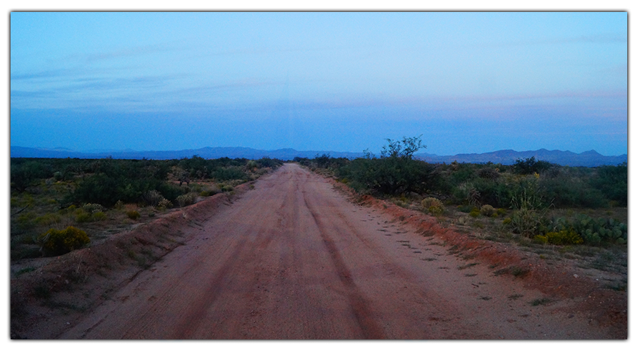
{"label": "desert scrub with tall bush and prickly pear right of the road", "polygon": [[[358,201],[371,194],[420,210],[470,236],[538,253],[547,265],[577,260],[580,268],[626,275],[626,163],[586,168],[527,158],[514,165],[432,165],[404,153],[404,146],[424,147],[421,137],[389,139],[380,157],[366,152],[355,160],[322,155],[295,161],[348,185]],[[498,269],[495,275],[528,272]]]}

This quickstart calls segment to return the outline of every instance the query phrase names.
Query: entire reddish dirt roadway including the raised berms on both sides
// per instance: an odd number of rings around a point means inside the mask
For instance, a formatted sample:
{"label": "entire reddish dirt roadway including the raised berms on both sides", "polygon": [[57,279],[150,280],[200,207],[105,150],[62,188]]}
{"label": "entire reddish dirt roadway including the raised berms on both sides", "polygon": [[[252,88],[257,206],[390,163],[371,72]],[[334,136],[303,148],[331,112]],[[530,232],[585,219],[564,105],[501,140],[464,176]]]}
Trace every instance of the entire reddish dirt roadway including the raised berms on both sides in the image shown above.
{"label": "entire reddish dirt roadway including the raised berms on both sides", "polygon": [[[625,339],[624,292],[298,165],[11,281],[12,337]],[[231,203],[230,203],[231,202]]]}

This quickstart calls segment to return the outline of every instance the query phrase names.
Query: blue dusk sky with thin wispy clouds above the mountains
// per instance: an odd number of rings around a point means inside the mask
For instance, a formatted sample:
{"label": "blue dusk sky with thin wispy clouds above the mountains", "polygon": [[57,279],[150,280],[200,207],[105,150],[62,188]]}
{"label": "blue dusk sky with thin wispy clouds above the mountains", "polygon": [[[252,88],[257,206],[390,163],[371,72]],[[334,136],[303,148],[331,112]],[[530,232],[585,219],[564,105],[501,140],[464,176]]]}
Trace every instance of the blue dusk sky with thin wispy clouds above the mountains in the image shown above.
{"label": "blue dusk sky with thin wispy clouds above the mountains", "polygon": [[627,153],[627,13],[20,13],[11,145]]}

